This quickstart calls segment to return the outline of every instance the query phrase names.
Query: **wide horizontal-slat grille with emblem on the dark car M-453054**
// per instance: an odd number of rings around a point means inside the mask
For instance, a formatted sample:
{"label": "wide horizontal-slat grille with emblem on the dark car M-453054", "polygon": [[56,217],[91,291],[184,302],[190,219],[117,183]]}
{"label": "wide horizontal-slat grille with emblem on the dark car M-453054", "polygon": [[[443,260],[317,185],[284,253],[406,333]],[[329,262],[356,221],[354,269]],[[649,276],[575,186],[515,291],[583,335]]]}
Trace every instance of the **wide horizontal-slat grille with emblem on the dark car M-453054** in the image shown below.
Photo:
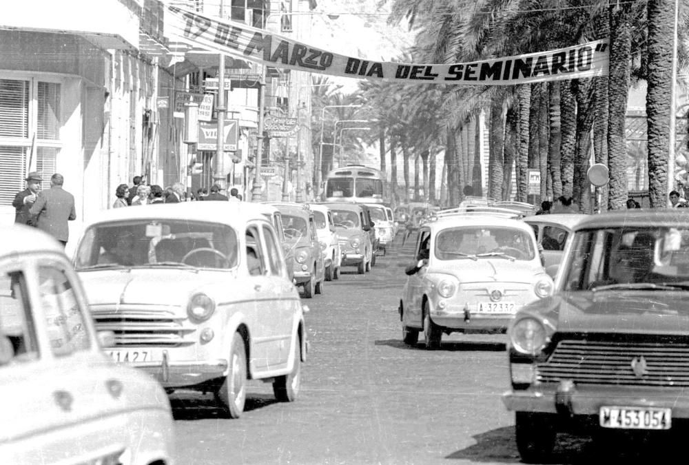
{"label": "wide horizontal-slat grille with emblem on the dark car M-453054", "polygon": [[689,386],[689,344],[562,340],[537,364],[540,382]]}

